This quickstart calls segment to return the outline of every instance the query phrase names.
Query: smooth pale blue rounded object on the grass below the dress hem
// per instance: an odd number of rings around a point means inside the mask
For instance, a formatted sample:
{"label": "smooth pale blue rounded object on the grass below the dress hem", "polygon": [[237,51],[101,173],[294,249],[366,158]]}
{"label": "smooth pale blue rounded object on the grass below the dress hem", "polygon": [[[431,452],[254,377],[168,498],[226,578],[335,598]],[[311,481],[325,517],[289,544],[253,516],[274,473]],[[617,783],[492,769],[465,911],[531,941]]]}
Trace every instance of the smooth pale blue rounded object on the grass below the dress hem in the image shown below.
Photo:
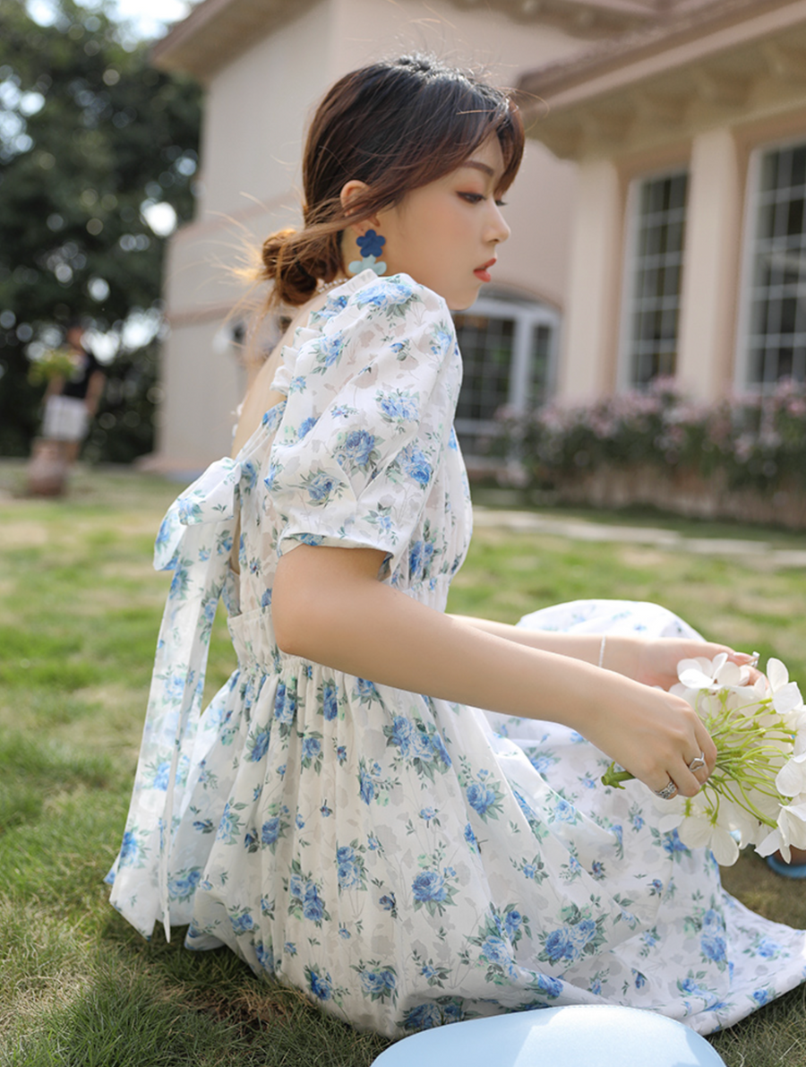
{"label": "smooth pale blue rounded object on the grass below the dress hem", "polygon": [[681,1022],[608,1004],[468,1019],[390,1046],[372,1067],[725,1067]]}

